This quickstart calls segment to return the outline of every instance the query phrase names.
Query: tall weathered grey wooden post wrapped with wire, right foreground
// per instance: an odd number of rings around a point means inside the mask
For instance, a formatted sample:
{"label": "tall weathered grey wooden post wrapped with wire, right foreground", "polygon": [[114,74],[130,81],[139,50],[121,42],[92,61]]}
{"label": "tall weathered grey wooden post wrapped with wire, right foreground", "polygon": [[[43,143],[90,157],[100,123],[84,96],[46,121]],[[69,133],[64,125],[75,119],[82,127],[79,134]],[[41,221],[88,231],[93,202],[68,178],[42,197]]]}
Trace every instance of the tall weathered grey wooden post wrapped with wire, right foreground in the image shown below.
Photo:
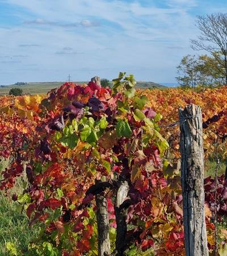
{"label": "tall weathered grey wooden post wrapped with wire, right foreground", "polygon": [[201,109],[196,105],[180,108],[179,118],[186,256],[208,256]]}

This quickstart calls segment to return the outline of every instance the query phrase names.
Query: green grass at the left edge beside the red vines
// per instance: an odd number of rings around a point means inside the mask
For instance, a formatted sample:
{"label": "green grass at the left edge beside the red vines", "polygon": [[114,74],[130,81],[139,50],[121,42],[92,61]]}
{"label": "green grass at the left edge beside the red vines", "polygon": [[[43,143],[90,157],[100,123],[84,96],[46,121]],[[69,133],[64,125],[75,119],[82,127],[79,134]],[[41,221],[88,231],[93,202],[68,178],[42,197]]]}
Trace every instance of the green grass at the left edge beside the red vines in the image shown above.
{"label": "green grass at the left edge beside the red vines", "polygon": [[[0,171],[6,167],[6,162],[0,162]],[[21,213],[18,203],[11,200],[13,193],[22,193],[22,179],[18,179],[15,188],[10,191],[9,196],[5,196],[0,191],[0,256],[10,255],[6,249],[6,243],[14,243],[20,255],[24,255],[28,243],[37,237],[38,230],[35,227],[28,228],[28,218],[25,211]]]}

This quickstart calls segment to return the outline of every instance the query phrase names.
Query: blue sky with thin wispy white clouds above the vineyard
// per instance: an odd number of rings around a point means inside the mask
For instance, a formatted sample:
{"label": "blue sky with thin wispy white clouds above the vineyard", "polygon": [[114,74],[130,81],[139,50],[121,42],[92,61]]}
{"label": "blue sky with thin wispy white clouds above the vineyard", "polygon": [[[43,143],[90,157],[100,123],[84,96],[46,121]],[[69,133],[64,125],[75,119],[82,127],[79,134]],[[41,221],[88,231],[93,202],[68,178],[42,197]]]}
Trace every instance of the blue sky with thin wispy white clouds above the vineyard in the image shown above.
{"label": "blue sky with thin wispy white clouds above the vineyard", "polygon": [[175,82],[197,53],[196,16],[226,10],[226,0],[0,0],[0,85],[119,72]]}

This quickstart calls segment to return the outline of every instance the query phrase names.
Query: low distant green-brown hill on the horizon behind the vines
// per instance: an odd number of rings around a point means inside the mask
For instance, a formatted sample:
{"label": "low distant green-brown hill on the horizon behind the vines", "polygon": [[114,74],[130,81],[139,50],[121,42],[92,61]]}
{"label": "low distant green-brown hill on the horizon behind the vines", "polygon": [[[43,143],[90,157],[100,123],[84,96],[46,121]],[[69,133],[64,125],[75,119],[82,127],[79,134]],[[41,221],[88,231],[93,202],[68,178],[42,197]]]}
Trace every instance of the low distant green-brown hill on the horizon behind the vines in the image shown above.
{"label": "low distant green-brown hill on the horizon behind the vines", "polygon": [[[9,94],[11,88],[19,87],[23,90],[24,94],[41,94],[47,93],[49,90],[57,88],[64,84],[64,82],[28,82],[24,84],[14,84],[14,85],[3,85],[0,87],[0,95]],[[77,84],[87,84],[87,82],[77,82]],[[161,84],[156,84],[155,82],[137,82],[137,88],[160,88],[165,89],[166,86]]]}

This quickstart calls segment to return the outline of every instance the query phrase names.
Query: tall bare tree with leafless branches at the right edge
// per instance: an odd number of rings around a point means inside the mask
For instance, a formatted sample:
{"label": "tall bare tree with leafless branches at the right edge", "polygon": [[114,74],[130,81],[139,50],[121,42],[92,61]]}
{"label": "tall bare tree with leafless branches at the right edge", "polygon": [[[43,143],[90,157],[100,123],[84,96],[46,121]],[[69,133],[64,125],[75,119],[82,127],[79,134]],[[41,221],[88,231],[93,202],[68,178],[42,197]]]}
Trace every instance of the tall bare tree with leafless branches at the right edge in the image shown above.
{"label": "tall bare tree with leafless branches at the right edge", "polygon": [[221,61],[220,65],[224,65],[227,84],[227,14],[198,16],[196,26],[201,35],[197,39],[191,39],[192,49],[205,50],[209,53],[221,52],[224,61]]}

